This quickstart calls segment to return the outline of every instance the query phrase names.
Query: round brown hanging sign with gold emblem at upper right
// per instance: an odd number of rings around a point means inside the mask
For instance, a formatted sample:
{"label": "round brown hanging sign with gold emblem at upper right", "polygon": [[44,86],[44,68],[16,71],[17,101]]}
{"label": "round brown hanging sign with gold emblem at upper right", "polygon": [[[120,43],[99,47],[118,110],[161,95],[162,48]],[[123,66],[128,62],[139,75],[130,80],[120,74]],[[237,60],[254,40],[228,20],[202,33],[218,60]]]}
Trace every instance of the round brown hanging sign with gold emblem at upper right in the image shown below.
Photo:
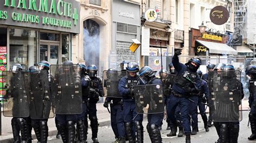
{"label": "round brown hanging sign with gold emblem at upper right", "polygon": [[215,6],[210,12],[210,19],[216,25],[223,25],[230,17],[228,10],[224,6]]}

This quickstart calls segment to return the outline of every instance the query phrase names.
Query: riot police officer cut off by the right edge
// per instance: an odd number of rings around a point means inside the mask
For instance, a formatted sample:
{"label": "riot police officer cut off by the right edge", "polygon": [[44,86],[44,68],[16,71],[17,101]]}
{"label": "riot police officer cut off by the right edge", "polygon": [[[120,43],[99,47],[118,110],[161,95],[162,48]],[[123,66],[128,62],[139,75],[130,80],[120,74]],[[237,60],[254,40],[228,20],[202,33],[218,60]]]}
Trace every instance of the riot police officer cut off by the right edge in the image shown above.
{"label": "riot police officer cut off by the right edge", "polygon": [[251,108],[251,111],[249,113],[249,120],[251,123],[251,130],[252,134],[250,137],[248,137],[248,140],[255,140],[256,139],[256,67],[254,65],[249,65],[245,69],[245,73],[249,78],[249,91],[250,91],[250,97],[249,97],[249,106]]}

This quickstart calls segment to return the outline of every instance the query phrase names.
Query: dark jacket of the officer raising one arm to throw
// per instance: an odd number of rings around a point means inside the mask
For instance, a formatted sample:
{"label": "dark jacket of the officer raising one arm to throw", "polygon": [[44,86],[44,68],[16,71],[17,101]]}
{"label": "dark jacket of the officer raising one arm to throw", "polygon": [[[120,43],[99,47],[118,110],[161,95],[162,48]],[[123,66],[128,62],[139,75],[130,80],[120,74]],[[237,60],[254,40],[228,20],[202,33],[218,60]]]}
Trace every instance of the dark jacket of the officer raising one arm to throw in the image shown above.
{"label": "dark jacket of the officer raising one arm to throw", "polygon": [[[174,68],[176,69],[177,71],[177,77],[176,77],[176,80],[174,81],[174,84],[172,86],[172,90],[174,92],[176,92],[177,94],[181,94],[181,95],[190,95],[190,93],[186,92],[183,87],[185,85],[178,85],[177,84],[177,81],[180,81],[181,78],[183,78],[183,74],[185,73],[185,71],[188,71],[190,73],[192,73],[192,71],[190,71],[190,69],[188,69],[188,67],[186,65],[184,65],[183,63],[180,63],[179,62],[179,58],[177,55],[174,55],[172,57],[172,64],[174,66]],[[196,84],[193,85],[193,87],[191,88],[196,88],[196,89],[199,89],[199,84],[200,84],[200,77],[198,76],[198,74],[195,72],[193,73],[196,77],[194,78],[194,81],[196,82]],[[191,84],[191,82],[187,81],[187,84]]]}

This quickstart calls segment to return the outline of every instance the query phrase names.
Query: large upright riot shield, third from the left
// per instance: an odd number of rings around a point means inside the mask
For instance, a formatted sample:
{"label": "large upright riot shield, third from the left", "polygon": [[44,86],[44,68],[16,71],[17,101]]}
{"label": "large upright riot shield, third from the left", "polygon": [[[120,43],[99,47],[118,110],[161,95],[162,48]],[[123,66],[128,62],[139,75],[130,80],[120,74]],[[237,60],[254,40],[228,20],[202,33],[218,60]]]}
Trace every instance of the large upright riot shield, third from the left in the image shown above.
{"label": "large upright riot shield, third from the left", "polygon": [[79,65],[51,65],[51,95],[56,114],[79,114],[82,109],[82,86]]}

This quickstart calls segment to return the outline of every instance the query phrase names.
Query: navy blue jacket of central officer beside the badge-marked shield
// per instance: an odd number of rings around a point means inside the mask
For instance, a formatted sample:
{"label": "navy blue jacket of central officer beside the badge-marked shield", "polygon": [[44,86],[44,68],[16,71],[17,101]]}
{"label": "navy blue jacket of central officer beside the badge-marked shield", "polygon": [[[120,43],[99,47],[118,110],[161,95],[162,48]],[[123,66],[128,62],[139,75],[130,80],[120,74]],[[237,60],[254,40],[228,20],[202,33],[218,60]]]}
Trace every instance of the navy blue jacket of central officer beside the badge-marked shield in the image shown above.
{"label": "navy blue jacket of central officer beside the badge-marked shield", "polygon": [[132,98],[134,95],[131,95],[131,89],[134,87],[134,85],[138,84],[138,78],[138,75],[134,77],[126,75],[119,81],[118,91],[119,94],[123,96],[124,102],[134,102],[134,99]]}

